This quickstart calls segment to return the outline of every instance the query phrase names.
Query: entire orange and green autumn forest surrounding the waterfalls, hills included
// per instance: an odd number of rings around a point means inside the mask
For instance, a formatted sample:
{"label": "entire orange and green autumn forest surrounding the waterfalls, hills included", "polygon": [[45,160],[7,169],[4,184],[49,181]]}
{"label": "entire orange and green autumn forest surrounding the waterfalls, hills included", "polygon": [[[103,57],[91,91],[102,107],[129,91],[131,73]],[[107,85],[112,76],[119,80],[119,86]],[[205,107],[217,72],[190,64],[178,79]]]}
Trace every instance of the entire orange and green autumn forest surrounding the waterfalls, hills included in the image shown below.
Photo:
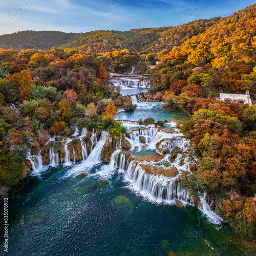
{"label": "entire orange and green autumn forest surrounding the waterfalls, hills included", "polygon": [[[190,139],[198,165],[193,174],[182,178],[183,186],[195,198],[206,192],[214,198],[212,208],[224,220],[243,238],[254,238],[256,106],[221,102],[218,97],[221,92],[250,91],[255,103],[255,12],[256,4],[230,17],[197,20],[177,28],[96,31],[66,37],[45,32],[51,40],[45,37],[41,45],[38,38],[42,32],[2,36],[2,192],[22,177],[33,137],[42,127],[62,136],[70,136],[74,125],[89,131],[101,127],[120,138],[125,129],[114,120],[115,105],[125,109],[134,105],[108,82],[107,71],[131,72],[136,66],[143,74],[152,75],[148,94],[161,92],[167,108],[190,115],[189,121],[178,122],[178,126]],[[31,47],[25,44],[28,35],[34,41]],[[9,40],[15,45],[9,45]],[[51,48],[52,44],[65,47]],[[157,60],[162,63],[149,69]]]}

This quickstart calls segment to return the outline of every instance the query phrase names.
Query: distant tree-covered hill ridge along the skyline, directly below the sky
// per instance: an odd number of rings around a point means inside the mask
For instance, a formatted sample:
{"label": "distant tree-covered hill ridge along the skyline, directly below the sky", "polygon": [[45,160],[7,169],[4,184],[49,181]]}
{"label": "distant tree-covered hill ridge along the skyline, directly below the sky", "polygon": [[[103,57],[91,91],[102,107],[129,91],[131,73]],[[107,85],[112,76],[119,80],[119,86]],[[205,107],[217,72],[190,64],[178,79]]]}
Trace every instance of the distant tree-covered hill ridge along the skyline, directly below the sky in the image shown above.
{"label": "distant tree-covered hill ridge along the skyline, directly below the sky", "polygon": [[63,33],[55,31],[23,31],[0,36],[0,48],[50,50],[52,47],[74,48],[95,53],[121,51],[157,52],[180,46],[189,39],[198,39],[212,46],[221,42],[253,46],[255,4],[231,16],[199,19],[177,27],[143,28],[130,31],[91,31]]}

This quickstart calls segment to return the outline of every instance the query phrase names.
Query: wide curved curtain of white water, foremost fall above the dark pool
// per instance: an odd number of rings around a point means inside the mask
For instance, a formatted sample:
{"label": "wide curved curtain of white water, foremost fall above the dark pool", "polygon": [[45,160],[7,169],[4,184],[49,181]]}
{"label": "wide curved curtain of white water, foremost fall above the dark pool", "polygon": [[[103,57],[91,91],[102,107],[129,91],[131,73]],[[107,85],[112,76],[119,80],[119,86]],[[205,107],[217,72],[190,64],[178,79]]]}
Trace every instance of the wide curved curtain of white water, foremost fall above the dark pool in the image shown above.
{"label": "wide curved curtain of white water, foremost fall above the dark pool", "polygon": [[131,183],[132,188],[142,196],[159,203],[175,203],[179,200],[184,204],[194,205],[194,199],[189,197],[178,178],[149,174],[140,163],[130,162],[122,153],[118,166],[119,171],[124,172],[125,179]]}

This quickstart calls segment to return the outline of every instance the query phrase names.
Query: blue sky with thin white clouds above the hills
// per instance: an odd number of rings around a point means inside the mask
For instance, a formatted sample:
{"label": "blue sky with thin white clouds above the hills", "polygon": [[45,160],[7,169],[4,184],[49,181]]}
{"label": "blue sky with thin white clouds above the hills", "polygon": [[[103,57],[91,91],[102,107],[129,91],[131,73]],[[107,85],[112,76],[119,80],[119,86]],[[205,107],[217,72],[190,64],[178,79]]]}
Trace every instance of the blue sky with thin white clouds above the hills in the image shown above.
{"label": "blue sky with thin white clouds above the hills", "polygon": [[11,0],[0,9],[0,35],[24,30],[88,32],[170,27],[225,17],[253,0]]}

